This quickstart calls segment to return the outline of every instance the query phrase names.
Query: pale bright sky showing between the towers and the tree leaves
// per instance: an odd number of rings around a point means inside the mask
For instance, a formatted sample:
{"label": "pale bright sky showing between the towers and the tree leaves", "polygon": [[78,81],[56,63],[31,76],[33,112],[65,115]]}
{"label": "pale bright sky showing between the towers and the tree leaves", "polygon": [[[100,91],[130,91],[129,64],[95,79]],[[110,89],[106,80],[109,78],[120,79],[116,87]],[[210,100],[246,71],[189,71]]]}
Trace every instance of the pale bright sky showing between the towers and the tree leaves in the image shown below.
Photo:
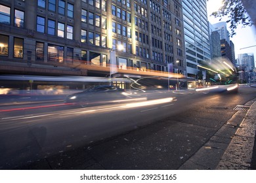
{"label": "pale bright sky showing between the towers and the tree leaves", "polygon": [[[216,24],[219,22],[219,18],[214,18],[213,16],[209,16],[211,12],[216,11],[221,7],[221,0],[209,0],[207,1],[207,13],[208,13],[208,20],[211,24]],[[225,18],[223,18],[223,22],[225,22]],[[236,58],[238,57],[238,54],[249,54],[253,53],[254,58],[256,60],[256,27],[242,27],[239,26],[236,29],[236,35],[230,38],[230,40],[234,43],[235,46],[235,53]],[[254,46],[251,48],[245,48],[248,46]],[[255,61],[256,65],[256,61]]]}

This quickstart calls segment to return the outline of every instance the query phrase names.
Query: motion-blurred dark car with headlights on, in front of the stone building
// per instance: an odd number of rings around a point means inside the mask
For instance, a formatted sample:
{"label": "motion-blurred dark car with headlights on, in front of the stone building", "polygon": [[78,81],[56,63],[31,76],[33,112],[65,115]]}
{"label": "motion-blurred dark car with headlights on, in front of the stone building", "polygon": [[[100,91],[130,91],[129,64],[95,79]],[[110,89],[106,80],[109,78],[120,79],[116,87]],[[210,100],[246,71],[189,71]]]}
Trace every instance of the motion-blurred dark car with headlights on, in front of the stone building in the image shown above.
{"label": "motion-blurred dark car with headlights on, in front of the stone building", "polygon": [[81,107],[89,105],[104,105],[108,103],[118,103],[122,99],[126,99],[125,90],[111,85],[91,86],[83,92],[68,95],[65,103],[74,103]]}

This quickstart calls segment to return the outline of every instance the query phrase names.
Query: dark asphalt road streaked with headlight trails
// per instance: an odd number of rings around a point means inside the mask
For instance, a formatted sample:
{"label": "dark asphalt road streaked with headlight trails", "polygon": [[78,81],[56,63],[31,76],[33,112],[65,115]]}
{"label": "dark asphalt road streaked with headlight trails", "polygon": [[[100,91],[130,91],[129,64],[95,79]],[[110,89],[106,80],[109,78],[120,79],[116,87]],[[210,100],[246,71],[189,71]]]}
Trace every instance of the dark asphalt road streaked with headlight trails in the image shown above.
{"label": "dark asphalt road streaked with headlight trails", "polygon": [[150,104],[2,111],[0,169],[179,169],[256,88],[159,95]]}

